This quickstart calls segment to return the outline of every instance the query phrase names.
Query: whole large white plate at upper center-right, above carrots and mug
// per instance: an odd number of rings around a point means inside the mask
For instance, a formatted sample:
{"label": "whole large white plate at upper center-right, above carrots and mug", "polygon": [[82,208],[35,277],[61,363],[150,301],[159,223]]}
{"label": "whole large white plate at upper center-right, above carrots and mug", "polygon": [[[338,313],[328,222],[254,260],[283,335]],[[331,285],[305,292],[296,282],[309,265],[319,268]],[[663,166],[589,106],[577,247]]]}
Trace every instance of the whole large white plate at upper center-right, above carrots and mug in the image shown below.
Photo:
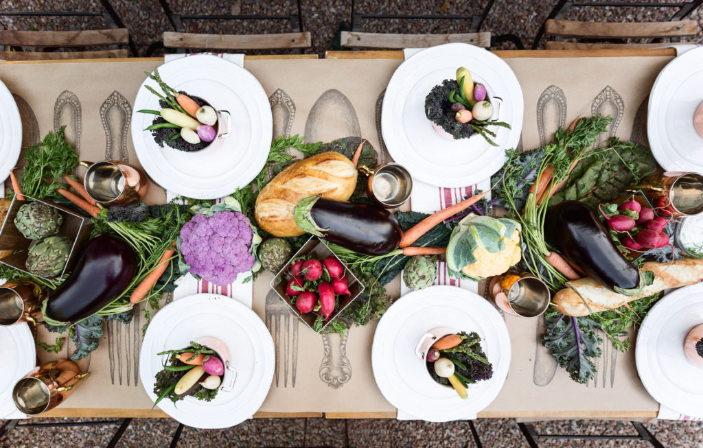
{"label": "whole large white plate at upper center-right, above carrots and mug", "polygon": [[[491,97],[503,99],[499,119],[512,130],[490,128],[498,134],[497,147],[478,135],[446,140],[425,117],[427,93],[444,79],[456,79],[458,67],[466,67],[475,82],[486,84]],[[505,150],[520,140],[522,109],[520,83],[501,58],[477,46],[445,44],[419,51],[395,71],[383,97],[381,131],[388,152],[413,178],[441,187],[464,187],[501,169]]]}

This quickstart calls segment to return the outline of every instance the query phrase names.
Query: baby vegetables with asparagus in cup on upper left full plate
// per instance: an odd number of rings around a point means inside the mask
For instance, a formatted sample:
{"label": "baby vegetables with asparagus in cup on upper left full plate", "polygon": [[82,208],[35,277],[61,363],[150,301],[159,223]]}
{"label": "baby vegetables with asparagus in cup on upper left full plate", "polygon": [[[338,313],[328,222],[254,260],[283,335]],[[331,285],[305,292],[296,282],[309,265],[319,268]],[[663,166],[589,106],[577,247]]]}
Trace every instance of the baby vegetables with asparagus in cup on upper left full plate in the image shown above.
{"label": "baby vegetables with asparagus in cup on upper left full plate", "polygon": [[159,71],[153,74],[144,72],[156,81],[162,93],[146,86],[148,91],[159,98],[161,110],[142,109],[138,112],[154,114],[153,123],[145,131],[151,131],[159,146],[166,144],[174,150],[199,151],[217,137],[217,111],[205,100],[188,96],[186,92],[176,91],[162,81]]}

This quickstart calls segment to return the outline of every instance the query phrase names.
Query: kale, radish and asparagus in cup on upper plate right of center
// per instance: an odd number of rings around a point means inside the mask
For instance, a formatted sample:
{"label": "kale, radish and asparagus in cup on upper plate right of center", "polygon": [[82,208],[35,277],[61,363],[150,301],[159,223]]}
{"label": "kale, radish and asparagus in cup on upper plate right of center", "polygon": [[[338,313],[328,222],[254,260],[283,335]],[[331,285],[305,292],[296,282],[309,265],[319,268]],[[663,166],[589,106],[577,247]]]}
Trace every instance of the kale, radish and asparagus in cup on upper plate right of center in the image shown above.
{"label": "kale, radish and asparagus in cup on upper plate right of center", "polygon": [[491,145],[498,146],[491,139],[496,138],[496,133],[488,126],[510,129],[510,124],[491,120],[493,113],[494,106],[486,86],[474,84],[471,72],[464,67],[456,70],[456,81],[445,79],[425,97],[425,116],[432,121],[434,130],[455,140],[470,138],[477,133]]}

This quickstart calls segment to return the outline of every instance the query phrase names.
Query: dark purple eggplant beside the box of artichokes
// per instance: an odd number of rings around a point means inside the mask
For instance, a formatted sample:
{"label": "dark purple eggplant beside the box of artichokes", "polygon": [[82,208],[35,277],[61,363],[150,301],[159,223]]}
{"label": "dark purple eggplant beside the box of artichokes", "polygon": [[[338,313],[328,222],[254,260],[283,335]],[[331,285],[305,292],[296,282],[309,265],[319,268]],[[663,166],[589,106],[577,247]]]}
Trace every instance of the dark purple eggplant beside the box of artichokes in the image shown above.
{"label": "dark purple eggplant beside the box of artichokes", "polygon": [[93,315],[127,289],[135,269],[134,250],[124,239],[94,237],[71,275],[49,296],[46,316],[59,322],[78,322]]}

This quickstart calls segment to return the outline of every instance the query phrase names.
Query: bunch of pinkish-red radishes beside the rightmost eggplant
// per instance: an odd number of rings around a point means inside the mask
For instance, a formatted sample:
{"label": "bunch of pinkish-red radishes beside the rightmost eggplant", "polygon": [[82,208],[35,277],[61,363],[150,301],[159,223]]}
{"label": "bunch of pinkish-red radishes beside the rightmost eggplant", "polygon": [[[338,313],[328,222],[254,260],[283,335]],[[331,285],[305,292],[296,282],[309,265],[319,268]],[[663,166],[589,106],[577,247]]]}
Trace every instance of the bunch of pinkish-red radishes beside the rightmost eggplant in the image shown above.
{"label": "bunch of pinkish-red radishes beside the rightmost eggplant", "polygon": [[[654,209],[643,207],[633,197],[617,206],[616,204],[600,205],[598,209],[602,214],[610,234],[626,249],[633,251],[647,251],[659,247],[669,246],[669,235],[666,235],[666,225],[670,216],[661,199],[654,199]],[[664,216],[657,216],[657,213]]]}

